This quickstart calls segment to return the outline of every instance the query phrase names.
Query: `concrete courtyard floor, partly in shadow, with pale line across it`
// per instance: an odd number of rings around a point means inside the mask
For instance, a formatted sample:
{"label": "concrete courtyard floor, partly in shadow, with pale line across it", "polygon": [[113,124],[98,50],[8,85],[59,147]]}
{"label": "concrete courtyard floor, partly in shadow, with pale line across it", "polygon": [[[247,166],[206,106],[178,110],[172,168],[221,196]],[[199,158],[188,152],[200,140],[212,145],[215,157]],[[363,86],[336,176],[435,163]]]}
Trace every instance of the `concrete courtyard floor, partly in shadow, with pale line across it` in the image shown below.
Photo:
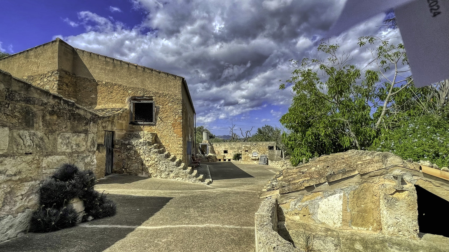
{"label": "concrete courtyard floor, partly in shadow, with pale line across it", "polygon": [[[203,165],[203,164],[202,164]],[[276,172],[268,165],[207,163],[200,185],[112,174],[95,187],[117,203],[113,217],[0,243],[8,252],[251,252],[257,194]]]}

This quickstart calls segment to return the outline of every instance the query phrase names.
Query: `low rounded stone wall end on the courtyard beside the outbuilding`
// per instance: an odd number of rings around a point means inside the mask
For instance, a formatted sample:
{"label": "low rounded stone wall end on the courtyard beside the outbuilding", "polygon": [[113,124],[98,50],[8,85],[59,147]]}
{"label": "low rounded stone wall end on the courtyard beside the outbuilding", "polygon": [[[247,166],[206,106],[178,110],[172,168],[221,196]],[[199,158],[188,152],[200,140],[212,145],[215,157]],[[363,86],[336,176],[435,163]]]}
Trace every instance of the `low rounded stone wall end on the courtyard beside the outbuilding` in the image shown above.
{"label": "low rounded stone wall end on the courtyard beside the outbuilding", "polygon": [[277,203],[265,199],[255,213],[255,252],[303,252],[277,233]]}

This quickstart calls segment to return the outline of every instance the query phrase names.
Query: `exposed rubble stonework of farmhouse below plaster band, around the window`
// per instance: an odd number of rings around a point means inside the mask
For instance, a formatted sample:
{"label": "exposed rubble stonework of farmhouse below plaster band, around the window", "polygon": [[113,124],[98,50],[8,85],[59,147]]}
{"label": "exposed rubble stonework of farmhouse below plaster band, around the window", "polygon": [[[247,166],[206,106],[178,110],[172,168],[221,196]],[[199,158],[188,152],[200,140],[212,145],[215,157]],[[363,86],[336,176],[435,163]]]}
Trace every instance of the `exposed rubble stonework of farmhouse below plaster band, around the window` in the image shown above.
{"label": "exposed rubble stonework of farmhouse below plaster band, around the window", "polygon": [[[24,80],[42,87],[48,91],[60,94],[88,109],[127,108],[127,111],[115,119],[116,139],[126,139],[126,133],[154,132],[161,139],[167,151],[183,158],[183,121],[182,100],[179,96],[149,91],[144,88],[128,87],[117,83],[94,80],[70,74],[64,70],[55,70],[46,74],[31,75]],[[47,81],[45,81],[47,79]],[[72,84],[70,84],[72,83]],[[64,87],[62,89],[62,87]],[[139,126],[129,124],[129,98],[132,96],[151,96],[154,100],[156,124],[154,126]],[[110,127],[111,128],[111,127]],[[104,136],[104,135],[103,135]],[[103,140],[101,140],[103,142]],[[101,148],[101,147],[100,147]],[[121,149],[117,149],[120,151]],[[102,149],[100,149],[102,152]],[[115,150],[114,150],[115,151]],[[101,158],[101,156],[100,156]],[[184,157],[184,162],[188,160]],[[118,170],[121,168],[117,168]]]}

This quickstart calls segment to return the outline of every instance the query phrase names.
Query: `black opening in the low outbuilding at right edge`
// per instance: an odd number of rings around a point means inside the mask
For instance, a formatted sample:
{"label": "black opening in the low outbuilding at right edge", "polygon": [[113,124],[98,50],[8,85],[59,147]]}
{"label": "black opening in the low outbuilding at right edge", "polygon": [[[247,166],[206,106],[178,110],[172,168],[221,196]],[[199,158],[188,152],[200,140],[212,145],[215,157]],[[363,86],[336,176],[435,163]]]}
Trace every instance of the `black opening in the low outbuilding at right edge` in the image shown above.
{"label": "black opening in the low outbuilding at right edge", "polygon": [[449,237],[449,229],[441,222],[440,211],[449,209],[449,201],[436,196],[423,187],[415,186],[418,195],[419,232]]}

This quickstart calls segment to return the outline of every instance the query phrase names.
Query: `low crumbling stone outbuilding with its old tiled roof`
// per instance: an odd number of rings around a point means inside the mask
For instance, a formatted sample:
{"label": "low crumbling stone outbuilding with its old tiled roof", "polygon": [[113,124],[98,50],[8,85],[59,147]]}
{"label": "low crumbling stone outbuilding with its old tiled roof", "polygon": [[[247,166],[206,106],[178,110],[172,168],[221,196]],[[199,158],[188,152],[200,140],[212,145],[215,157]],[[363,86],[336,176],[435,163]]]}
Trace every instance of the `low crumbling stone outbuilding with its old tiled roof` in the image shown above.
{"label": "low crumbling stone outbuilding with its old tiled roof", "polygon": [[314,251],[445,251],[449,238],[419,235],[417,185],[449,198],[449,182],[418,163],[348,151],[279,171],[260,196],[277,200],[278,232],[297,248],[308,234]]}

